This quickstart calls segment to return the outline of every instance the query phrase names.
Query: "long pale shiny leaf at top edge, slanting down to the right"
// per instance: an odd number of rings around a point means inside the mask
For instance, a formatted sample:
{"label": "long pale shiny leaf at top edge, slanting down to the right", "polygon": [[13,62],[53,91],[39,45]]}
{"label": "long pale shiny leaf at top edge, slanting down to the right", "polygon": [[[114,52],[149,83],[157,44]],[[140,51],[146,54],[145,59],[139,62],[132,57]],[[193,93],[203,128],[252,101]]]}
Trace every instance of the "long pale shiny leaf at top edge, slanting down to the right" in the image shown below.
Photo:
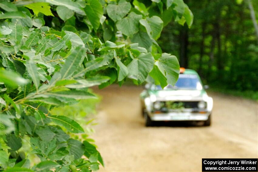
{"label": "long pale shiny leaf at top edge, slanting down to the right", "polygon": [[66,8],[69,8],[70,10],[73,10],[74,12],[80,14],[80,15],[85,15],[85,12],[83,11],[83,8],[80,6],[80,3],[74,2],[74,1],[59,1],[59,0],[46,0],[46,2],[49,2],[50,4],[53,5],[62,5],[65,6]]}

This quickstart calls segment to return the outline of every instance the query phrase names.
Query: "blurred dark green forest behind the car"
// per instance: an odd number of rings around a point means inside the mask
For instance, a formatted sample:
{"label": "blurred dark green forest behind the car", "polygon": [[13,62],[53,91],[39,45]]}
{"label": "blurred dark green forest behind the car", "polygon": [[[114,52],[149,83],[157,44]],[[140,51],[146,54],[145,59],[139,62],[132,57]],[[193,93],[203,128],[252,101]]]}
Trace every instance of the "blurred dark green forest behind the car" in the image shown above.
{"label": "blurred dark green forest behind the car", "polygon": [[258,37],[249,2],[257,21],[258,1],[188,0],[195,16],[192,28],[171,22],[158,43],[215,87],[257,92]]}

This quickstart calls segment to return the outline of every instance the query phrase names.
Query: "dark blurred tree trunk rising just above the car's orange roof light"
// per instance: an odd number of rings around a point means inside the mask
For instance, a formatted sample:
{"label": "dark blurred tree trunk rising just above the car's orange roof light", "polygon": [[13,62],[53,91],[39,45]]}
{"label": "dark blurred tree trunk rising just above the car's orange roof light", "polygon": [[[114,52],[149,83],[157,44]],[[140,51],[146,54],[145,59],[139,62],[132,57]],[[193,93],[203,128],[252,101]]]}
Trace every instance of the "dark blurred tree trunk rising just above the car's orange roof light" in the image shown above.
{"label": "dark blurred tree trunk rising just above the car's orange roof light", "polygon": [[181,67],[188,68],[188,56],[187,56],[187,47],[188,47],[188,27],[184,25],[180,30],[180,59],[179,64]]}

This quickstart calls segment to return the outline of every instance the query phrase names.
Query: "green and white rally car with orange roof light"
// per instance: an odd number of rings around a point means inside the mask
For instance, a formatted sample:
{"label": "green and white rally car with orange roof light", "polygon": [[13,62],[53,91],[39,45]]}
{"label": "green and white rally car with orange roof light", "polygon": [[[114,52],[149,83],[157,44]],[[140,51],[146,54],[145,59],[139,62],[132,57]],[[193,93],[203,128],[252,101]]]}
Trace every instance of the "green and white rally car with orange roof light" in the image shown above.
{"label": "green and white rally car with orange roof light", "polygon": [[213,100],[205,91],[197,72],[180,68],[175,86],[148,83],[140,94],[145,125],[154,121],[204,121],[211,125]]}

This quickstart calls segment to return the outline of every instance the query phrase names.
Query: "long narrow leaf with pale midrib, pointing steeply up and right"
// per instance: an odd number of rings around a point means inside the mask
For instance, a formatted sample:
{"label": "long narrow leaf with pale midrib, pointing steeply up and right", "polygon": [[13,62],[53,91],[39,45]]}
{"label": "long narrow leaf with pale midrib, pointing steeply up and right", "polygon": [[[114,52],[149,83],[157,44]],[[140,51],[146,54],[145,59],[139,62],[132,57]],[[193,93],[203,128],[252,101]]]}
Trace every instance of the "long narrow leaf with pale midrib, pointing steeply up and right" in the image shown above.
{"label": "long narrow leaf with pale midrib, pointing steeply up and right", "polygon": [[60,69],[61,79],[66,79],[73,75],[85,54],[86,48],[83,46],[78,46],[71,52],[66,58],[65,64]]}

